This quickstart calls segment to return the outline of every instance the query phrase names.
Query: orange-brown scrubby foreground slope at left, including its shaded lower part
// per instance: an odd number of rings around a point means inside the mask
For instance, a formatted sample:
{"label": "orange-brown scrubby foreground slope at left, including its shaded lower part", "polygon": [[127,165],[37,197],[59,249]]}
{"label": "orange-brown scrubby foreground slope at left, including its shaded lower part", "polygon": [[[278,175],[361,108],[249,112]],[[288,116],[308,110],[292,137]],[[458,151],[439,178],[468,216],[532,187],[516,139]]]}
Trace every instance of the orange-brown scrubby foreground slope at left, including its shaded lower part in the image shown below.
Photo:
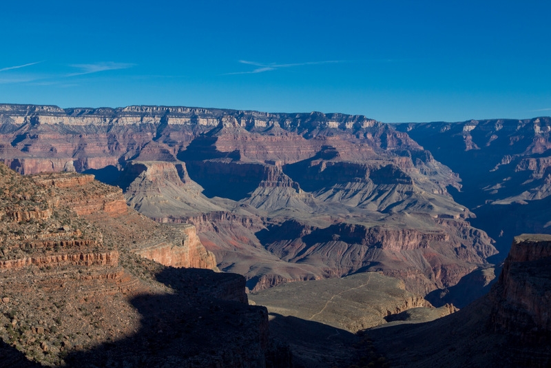
{"label": "orange-brown scrubby foreground slope at left, including its shaded lower part", "polygon": [[291,365],[245,278],[120,189],[0,164],[0,216],[0,367]]}

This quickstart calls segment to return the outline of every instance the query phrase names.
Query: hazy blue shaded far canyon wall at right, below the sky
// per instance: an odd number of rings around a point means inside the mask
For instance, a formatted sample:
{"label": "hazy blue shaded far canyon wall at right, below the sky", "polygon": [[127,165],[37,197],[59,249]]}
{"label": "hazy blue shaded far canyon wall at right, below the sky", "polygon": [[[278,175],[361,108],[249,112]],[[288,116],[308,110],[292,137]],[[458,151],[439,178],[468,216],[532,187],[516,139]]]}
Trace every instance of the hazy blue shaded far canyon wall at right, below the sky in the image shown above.
{"label": "hazy blue shaded far canyon wall at right, below the sky", "polygon": [[450,193],[476,214],[470,223],[496,241],[500,254],[492,263],[503,261],[517,234],[551,234],[549,117],[395,127],[459,174],[461,190]]}

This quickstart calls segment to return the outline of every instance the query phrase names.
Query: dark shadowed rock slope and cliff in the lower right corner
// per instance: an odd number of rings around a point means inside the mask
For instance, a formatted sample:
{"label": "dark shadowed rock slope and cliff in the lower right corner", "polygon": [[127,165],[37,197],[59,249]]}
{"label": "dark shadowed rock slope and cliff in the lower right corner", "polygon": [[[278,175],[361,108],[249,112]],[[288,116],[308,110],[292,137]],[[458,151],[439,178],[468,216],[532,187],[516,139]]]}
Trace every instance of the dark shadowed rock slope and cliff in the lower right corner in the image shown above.
{"label": "dark shadowed rock slope and cliff in the lower right corner", "polygon": [[518,236],[490,294],[430,323],[366,333],[393,367],[549,367],[550,246],[547,234]]}

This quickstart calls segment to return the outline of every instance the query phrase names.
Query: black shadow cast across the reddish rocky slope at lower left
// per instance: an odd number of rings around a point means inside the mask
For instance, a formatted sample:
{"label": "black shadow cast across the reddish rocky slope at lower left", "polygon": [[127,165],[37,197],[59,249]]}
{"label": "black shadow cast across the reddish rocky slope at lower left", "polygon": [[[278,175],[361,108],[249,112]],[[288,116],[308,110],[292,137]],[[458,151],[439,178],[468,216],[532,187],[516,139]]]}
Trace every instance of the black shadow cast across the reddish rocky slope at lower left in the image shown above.
{"label": "black shadow cast across the reddish rocky slope at lower left", "polygon": [[[167,268],[158,280],[174,294],[142,294],[130,303],[141,328],[121,340],[72,351],[71,367],[289,367],[273,362],[284,347],[269,340],[267,310],[249,306],[245,278],[206,269]],[[230,298],[233,300],[225,300]],[[246,298],[246,297],[245,297]]]}

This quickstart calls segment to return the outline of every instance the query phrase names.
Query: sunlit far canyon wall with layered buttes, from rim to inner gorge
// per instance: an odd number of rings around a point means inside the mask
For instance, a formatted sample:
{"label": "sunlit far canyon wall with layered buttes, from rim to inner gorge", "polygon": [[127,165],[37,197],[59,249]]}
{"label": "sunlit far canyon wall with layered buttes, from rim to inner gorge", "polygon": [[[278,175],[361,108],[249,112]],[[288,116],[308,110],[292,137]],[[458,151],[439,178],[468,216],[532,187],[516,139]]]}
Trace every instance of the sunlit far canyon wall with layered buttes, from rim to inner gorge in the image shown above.
{"label": "sunlit far canyon wall with layered buttes, from rim to inner gorge", "polygon": [[497,254],[448,191],[459,176],[365,116],[0,105],[0,158],[118,185],[145,216],[194,225],[255,292],[382,272],[424,296]]}

